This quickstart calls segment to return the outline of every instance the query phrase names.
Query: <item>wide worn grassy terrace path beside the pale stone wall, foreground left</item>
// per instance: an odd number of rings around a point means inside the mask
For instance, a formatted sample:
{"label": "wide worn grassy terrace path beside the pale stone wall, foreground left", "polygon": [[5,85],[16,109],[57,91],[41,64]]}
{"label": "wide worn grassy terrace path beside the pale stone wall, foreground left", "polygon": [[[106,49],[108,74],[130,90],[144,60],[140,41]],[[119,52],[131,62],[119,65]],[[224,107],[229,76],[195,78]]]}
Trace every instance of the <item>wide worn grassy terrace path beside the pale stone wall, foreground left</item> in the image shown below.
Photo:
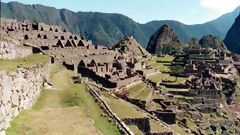
{"label": "wide worn grassy terrace path beside the pale stone wall, foreground left", "polygon": [[102,115],[85,85],[72,83],[72,74],[53,66],[53,89],[43,90],[33,109],[14,118],[7,135],[119,135],[117,126]]}

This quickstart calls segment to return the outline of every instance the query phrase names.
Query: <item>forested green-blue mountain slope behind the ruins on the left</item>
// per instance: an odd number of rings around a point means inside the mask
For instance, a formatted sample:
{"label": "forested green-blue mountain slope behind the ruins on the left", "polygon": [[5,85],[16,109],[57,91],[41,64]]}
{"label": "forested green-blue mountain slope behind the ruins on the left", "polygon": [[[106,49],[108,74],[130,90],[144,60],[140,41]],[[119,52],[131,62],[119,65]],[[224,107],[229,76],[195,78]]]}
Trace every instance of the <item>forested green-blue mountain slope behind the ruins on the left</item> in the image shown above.
{"label": "forested green-blue mountain slope behind the ruins on the left", "polygon": [[120,14],[72,12],[67,9],[10,2],[1,3],[1,17],[60,25],[103,45],[114,45],[125,35],[134,35],[141,43],[148,41],[139,24]]}

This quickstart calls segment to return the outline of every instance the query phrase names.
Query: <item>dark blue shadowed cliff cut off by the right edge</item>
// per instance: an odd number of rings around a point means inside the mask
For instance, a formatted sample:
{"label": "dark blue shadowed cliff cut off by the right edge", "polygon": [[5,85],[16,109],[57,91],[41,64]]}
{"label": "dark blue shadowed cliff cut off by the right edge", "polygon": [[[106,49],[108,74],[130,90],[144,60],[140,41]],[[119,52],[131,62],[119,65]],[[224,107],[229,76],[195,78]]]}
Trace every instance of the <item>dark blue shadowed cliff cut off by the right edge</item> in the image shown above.
{"label": "dark blue shadowed cliff cut off by the right edge", "polygon": [[224,43],[229,51],[240,54],[240,15],[228,31]]}

